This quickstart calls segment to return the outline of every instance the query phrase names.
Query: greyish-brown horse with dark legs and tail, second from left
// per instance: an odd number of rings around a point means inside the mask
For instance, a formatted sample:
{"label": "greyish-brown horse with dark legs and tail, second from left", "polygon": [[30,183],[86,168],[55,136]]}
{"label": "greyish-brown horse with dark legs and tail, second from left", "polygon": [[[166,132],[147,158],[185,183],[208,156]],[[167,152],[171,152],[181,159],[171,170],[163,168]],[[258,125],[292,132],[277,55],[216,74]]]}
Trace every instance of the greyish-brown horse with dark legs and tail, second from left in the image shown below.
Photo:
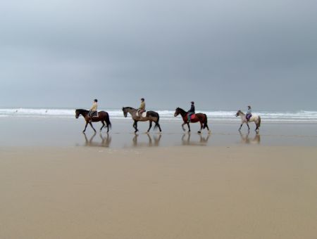
{"label": "greyish-brown horse with dark legs and tail, second from left", "polygon": [[128,116],[128,113],[130,113],[130,115],[132,116],[132,120],[134,120],[135,122],[133,123],[132,127],[135,128],[135,133],[137,133],[137,131],[139,131],[139,129],[137,129],[137,122],[146,122],[149,121],[149,129],[147,130],[147,133],[149,133],[151,127],[152,127],[152,122],[155,123],[154,126],[154,130],[156,128],[159,128],[159,131],[161,132],[161,126],[159,124],[159,120],[160,120],[160,116],[158,112],[155,111],[147,111],[146,112],[146,116],[145,117],[139,117],[137,115],[137,109],[132,108],[132,107],[123,107],[122,108],[123,111],[123,115],[124,117]]}

